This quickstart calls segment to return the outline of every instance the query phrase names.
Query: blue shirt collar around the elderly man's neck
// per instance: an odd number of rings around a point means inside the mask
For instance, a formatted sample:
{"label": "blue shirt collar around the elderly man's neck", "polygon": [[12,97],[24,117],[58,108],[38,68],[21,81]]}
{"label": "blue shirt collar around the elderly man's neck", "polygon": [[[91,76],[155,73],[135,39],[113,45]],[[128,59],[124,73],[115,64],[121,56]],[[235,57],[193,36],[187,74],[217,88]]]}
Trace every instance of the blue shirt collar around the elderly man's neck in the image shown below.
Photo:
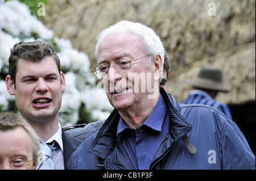
{"label": "blue shirt collar around the elderly man's neck", "polygon": [[[147,125],[156,131],[162,131],[162,125],[164,117],[166,116],[166,103],[164,102],[163,96],[159,94],[158,102],[156,103],[153,111],[143,125]],[[125,121],[120,117],[119,123],[117,126],[117,135],[124,131],[126,128],[130,128]]]}

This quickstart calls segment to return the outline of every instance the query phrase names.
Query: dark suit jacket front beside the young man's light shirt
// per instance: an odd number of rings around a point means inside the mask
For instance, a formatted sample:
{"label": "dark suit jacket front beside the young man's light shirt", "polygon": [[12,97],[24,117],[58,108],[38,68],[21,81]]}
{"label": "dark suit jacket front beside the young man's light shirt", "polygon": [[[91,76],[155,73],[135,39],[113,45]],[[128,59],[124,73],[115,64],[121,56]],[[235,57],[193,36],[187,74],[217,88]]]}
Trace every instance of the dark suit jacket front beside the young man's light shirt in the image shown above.
{"label": "dark suit jacket front beside the young man's light shirt", "polygon": [[63,155],[64,155],[64,167],[66,168],[69,158],[72,153],[77,149],[77,147],[82,143],[81,140],[68,136],[62,131],[62,141],[63,141]]}

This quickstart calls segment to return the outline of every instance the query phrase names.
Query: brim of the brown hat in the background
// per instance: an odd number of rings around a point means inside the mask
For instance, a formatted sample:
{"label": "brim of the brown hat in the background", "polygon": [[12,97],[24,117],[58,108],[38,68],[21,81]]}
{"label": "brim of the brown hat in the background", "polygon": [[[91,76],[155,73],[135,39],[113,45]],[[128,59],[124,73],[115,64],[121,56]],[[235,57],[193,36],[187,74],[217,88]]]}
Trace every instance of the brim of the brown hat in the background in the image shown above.
{"label": "brim of the brown hat in the background", "polygon": [[229,92],[229,89],[224,87],[220,82],[209,81],[208,79],[196,78],[196,81],[188,81],[193,87],[201,89],[216,90],[221,92]]}

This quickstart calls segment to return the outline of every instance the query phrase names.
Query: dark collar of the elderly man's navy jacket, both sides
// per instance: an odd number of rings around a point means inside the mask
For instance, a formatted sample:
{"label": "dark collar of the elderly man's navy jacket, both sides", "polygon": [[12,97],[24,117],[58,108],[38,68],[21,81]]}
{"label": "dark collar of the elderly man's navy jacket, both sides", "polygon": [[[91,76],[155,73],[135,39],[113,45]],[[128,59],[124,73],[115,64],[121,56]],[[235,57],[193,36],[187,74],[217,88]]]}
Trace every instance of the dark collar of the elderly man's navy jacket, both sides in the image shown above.
{"label": "dark collar of the elderly man's navy jacket, both sides", "polygon": [[[169,132],[172,140],[177,142],[181,137],[191,131],[192,125],[181,115],[179,103],[176,102],[172,95],[168,94],[162,87],[160,87],[160,94],[163,96],[167,105],[167,111],[170,113]],[[120,115],[118,111],[114,109],[102,125],[88,153],[96,154],[98,157],[105,159],[111,151],[113,151],[119,119]]]}

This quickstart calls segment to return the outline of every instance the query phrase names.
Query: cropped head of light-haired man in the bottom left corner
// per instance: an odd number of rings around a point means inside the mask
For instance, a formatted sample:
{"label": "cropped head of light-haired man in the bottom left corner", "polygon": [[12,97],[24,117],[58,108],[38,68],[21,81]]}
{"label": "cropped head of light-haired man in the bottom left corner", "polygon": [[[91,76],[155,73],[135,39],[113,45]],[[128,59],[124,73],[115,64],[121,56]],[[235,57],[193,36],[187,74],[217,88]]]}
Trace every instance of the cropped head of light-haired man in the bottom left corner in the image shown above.
{"label": "cropped head of light-haired man in the bottom left corner", "polygon": [[38,165],[39,140],[18,115],[0,113],[0,170],[32,170]]}

